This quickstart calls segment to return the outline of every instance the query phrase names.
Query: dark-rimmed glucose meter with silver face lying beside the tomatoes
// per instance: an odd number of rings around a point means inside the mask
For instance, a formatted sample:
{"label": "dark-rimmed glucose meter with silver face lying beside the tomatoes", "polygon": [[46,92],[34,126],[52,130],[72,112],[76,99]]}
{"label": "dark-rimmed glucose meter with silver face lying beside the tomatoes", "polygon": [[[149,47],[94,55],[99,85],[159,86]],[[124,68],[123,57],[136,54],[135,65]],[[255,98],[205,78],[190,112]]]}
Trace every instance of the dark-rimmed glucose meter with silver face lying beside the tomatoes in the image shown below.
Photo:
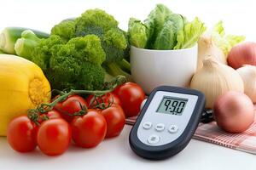
{"label": "dark-rimmed glucose meter with silver face lying beside the tomatoes", "polygon": [[131,149],[150,160],[176,155],[195,133],[204,108],[205,96],[200,91],[171,86],[155,88],[131,129]]}

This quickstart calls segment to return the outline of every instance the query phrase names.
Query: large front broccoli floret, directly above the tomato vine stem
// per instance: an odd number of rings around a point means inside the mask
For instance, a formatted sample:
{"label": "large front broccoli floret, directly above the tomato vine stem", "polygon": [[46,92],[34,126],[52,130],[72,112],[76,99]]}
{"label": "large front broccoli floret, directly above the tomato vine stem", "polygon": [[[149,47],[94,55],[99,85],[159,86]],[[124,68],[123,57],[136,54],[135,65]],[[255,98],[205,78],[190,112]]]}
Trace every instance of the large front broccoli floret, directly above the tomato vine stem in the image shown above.
{"label": "large front broccoli floret, directly above the tomato vine stem", "polygon": [[49,81],[53,88],[99,89],[104,82],[105,53],[95,35],[72,38],[51,48]]}

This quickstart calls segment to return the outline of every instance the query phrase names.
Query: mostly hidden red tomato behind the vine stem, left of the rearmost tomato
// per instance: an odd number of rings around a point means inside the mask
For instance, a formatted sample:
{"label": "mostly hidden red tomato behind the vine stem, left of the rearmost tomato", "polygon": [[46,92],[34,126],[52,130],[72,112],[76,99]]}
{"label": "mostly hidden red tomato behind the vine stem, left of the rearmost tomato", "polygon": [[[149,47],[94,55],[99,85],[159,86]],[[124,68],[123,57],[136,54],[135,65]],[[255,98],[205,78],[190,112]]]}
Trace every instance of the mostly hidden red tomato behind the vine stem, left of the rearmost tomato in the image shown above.
{"label": "mostly hidden red tomato behind the vine stem, left of the rearmost tomato", "polygon": [[[87,104],[90,105],[90,100],[93,99],[94,95],[90,95],[86,101],[87,101]],[[116,94],[113,94],[113,93],[108,93],[108,94],[104,94],[102,95],[102,100],[103,102],[105,103],[105,105],[108,105],[108,103],[113,103],[113,104],[116,104],[116,105],[121,105],[121,101],[119,99],[119,97],[116,95]],[[101,99],[97,99],[97,101],[99,103],[102,103],[102,100]],[[96,105],[96,101],[94,101],[92,103],[92,105]]]}

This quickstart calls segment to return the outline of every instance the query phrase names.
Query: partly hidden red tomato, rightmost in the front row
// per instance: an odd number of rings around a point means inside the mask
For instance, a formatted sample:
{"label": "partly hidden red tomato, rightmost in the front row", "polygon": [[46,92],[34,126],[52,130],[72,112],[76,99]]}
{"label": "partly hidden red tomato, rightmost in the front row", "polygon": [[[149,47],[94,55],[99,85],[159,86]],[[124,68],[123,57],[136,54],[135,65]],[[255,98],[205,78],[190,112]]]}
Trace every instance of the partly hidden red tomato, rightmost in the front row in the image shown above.
{"label": "partly hidden red tomato, rightmost in the front row", "polygon": [[102,110],[102,115],[107,122],[106,138],[118,136],[125,127],[125,113],[121,106],[111,105],[111,107]]}

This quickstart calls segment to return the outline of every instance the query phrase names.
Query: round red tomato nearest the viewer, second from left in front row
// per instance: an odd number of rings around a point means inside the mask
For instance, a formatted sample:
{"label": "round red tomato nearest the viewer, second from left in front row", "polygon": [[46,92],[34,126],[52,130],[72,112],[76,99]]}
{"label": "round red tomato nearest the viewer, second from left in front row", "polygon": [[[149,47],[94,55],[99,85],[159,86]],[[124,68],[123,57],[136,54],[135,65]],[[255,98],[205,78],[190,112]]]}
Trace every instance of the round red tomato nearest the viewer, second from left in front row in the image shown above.
{"label": "round red tomato nearest the viewer, second from left in front row", "polygon": [[71,128],[63,119],[49,119],[38,128],[38,147],[48,156],[61,155],[71,141]]}

